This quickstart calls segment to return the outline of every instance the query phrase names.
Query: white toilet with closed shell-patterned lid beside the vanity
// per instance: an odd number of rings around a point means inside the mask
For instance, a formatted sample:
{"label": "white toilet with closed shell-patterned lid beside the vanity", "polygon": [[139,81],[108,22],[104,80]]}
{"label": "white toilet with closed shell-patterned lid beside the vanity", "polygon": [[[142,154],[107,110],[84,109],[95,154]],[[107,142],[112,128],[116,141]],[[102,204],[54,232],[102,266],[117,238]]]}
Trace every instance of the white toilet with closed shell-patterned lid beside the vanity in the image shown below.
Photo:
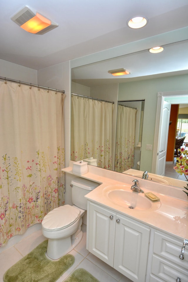
{"label": "white toilet with closed shell-patterned lid beside the vanity", "polygon": [[71,181],[73,206],[64,205],[49,212],[42,221],[42,234],[48,238],[46,255],[57,260],[70,252],[81,241],[82,217],[87,210],[85,195],[98,184],[75,178]]}

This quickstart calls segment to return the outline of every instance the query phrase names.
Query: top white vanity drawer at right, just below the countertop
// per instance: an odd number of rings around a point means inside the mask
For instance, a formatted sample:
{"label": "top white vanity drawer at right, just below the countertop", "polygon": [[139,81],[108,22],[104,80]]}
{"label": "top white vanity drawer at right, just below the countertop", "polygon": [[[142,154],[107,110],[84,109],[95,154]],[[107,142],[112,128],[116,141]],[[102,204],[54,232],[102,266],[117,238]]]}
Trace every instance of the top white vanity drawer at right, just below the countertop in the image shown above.
{"label": "top white vanity drawer at right, just below the countertop", "polygon": [[182,246],[183,239],[178,240],[170,235],[166,235],[158,231],[155,232],[153,252],[169,260],[171,263],[175,263],[176,265],[179,265],[187,270],[188,246],[185,246],[184,260],[180,260],[179,255],[181,254]]}

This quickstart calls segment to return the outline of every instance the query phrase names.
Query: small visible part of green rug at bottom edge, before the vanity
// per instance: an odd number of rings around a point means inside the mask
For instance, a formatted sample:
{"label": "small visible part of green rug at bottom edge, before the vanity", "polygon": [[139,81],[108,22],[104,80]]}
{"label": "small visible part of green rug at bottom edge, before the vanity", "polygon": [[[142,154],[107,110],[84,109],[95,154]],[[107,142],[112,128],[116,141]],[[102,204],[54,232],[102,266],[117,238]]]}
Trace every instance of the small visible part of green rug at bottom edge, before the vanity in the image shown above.
{"label": "small visible part of green rug at bottom edge, before the vanity", "polygon": [[93,275],[83,268],[76,269],[65,282],[99,282]]}

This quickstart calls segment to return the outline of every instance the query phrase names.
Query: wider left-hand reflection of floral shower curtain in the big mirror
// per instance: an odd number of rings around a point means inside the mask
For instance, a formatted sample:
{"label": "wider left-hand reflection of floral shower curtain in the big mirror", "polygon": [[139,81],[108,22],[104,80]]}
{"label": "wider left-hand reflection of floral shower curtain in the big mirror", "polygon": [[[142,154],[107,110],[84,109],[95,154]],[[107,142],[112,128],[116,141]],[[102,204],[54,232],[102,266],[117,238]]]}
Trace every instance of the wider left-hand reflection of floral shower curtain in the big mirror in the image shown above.
{"label": "wider left-hand reflection of floral shower curtain in the big mirror", "polygon": [[112,169],[113,104],[72,95],[71,160],[93,157]]}

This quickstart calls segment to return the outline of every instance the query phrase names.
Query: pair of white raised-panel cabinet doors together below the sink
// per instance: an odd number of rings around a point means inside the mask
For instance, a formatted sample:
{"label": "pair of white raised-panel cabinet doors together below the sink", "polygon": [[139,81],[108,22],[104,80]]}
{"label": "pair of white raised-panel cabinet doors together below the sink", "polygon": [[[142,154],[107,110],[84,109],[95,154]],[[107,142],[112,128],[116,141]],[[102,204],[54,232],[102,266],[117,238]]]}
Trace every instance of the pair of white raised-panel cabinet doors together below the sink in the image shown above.
{"label": "pair of white raised-panel cabinet doors together below the sink", "polygon": [[130,278],[145,281],[150,228],[88,201],[88,250]]}

